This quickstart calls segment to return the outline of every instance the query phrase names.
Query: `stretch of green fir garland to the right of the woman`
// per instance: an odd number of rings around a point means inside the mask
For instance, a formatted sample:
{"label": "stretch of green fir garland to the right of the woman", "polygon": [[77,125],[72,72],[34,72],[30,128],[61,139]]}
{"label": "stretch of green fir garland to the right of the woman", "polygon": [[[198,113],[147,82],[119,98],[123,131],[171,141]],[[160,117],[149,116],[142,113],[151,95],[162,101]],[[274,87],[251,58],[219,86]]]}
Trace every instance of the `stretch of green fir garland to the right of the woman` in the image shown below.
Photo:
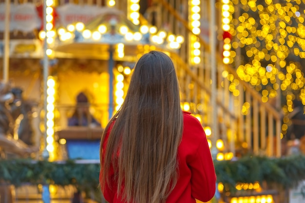
{"label": "stretch of green fir garland to the right of the woman", "polygon": [[247,156],[237,161],[216,161],[214,164],[217,181],[223,183],[229,191],[235,191],[238,183],[255,182],[290,188],[305,179],[304,155],[282,158]]}

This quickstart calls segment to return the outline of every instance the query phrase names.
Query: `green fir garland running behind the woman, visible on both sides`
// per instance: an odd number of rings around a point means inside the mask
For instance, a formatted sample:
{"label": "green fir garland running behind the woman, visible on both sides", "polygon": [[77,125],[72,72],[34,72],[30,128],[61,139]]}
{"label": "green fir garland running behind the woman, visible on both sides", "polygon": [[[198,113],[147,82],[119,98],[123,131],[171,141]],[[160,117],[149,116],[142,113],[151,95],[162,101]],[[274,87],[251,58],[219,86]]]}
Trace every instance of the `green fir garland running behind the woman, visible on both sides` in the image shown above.
{"label": "green fir garland running behind the woman, visible on both sides", "polygon": [[[266,182],[289,188],[305,179],[304,155],[283,158],[246,156],[236,161],[215,161],[214,166],[217,182],[223,183],[231,192],[238,183]],[[77,164],[73,160],[64,163],[0,160],[0,183],[76,185],[82,190],[96,190],[99,169],[99,164]]]}

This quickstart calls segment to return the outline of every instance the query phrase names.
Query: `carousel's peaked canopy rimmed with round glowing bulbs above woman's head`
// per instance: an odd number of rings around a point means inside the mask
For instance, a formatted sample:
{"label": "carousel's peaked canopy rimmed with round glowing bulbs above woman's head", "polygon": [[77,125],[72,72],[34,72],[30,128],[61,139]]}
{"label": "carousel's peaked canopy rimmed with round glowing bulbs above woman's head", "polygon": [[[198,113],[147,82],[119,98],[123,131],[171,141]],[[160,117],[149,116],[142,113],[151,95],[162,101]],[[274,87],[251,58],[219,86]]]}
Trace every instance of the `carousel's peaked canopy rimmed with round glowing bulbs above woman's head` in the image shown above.
{"label": "carousel's peaked canopy rimmed with round glowing bulbs above woman's head", "polygon": [[166,37],[152,34],[148,25],[133,24],[114,8],[105,8],[86,24],[76,22],[58,28],[53,51],[54,57],[104,60],[108,60],[113,51],[114,60],[136,61],[139,54],[150,50],[175,52],[180,44],[175,42],[172,48]]}

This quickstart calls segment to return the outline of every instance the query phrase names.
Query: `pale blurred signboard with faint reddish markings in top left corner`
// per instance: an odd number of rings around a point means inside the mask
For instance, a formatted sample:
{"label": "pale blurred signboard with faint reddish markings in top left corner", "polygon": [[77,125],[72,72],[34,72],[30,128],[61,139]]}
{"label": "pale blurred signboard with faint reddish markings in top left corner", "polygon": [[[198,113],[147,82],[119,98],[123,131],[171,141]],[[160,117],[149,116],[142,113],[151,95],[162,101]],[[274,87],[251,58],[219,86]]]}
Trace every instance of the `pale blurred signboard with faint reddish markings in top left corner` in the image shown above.
{"label": "pale blurred signboard with faint reddish markings in top left corner", "polygon": [[[31,32],[40,28],[41,20],[38,17],[36,5],[33,3],[10,5],[10,30]],[[5,28],[5,4],[0,3],[0,32]]]}

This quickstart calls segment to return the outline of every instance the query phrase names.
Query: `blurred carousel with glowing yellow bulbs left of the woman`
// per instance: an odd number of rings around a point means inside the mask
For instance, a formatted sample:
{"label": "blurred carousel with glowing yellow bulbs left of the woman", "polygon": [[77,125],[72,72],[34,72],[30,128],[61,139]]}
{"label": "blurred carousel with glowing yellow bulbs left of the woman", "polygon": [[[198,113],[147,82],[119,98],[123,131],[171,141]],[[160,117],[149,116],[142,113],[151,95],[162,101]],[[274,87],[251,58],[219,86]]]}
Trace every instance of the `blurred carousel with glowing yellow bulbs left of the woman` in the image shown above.
{"label": "blurred carousel with glowing yellow bulbs left of the woman", "polygon": [[[2,71],[4,81],[32,101],[31,113],[24,115],[36,119],[31,123],[36,133],[28,139],[50,161],[98,160],[101,133],[124,101],[136,60],[151,50],[174,54],[184,38],[158,31],[145,19],[134,24],[113,7],[68,3],[55,9],[51,1],[27,6],[23,13],[11,7],[13,15],[28,15],[36,9],[33,18],[45,15],[45,26],[32,22],[32,29],[23,31],[27,35],[10,50],[12,54],[3,52]],[[19,25],[11,22],[15,24]],[[20,41],[16,29],[3,31],[5,49]],[[26,66],[21,67],[24,61]],[[92,153],[86,153],[88,148]]]}

